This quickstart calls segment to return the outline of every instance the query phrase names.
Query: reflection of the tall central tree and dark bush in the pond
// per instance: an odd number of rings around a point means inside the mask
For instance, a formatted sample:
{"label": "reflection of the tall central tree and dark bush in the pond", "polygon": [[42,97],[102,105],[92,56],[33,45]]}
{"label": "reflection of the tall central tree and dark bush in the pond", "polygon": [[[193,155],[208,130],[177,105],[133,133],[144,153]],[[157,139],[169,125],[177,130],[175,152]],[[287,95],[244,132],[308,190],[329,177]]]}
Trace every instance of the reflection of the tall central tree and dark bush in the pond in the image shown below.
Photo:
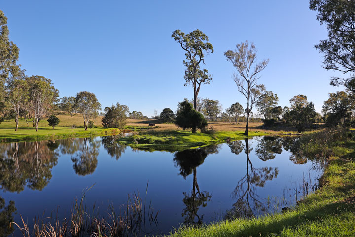
{"label": "reflection of the tall central tree and dark bush in the pond", "polygon": [[[218,153],[219,146],[209,146],[198,149],[188,149],[174,154],[175,167],[180,168],[180,175],[186,178],[193,173],[193,183],[191,193],[183,192],[183,203],[186,208],[182,212],[185,216],[184,223],[187,225],[202,224],[203,216],[198,215],[199,208],[205,207],[211,200],[211,195],[207,191],[200,191],[197,183],[197,167],[201,165],[208,154]],[[196,219],[197,218],[197,219]]]}

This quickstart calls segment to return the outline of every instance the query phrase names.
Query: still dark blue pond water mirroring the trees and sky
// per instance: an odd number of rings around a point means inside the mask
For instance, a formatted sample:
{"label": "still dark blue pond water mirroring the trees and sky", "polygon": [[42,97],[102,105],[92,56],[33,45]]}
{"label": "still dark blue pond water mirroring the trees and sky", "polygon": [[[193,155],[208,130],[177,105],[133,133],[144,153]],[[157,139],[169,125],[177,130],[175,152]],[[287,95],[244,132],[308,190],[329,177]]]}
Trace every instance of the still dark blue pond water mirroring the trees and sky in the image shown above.
{"label": "still dark blue pond water mirroring the trees and sky", "polygon": [[175,153],[133,150],[114,137],[0,144],[0,196],[6,205],[14,201],[16,222],[21,214],[31,224],[58,207],[58,218],[68,218],[74,198],[93,184],[86,205],[105,215],[129,193],[144,199],[149,182],[146,200],[159,211],[153,233],[167,234],[183,223],[295,205],[322,174],[320,163],[298,155],[295,139],[258,137]]}

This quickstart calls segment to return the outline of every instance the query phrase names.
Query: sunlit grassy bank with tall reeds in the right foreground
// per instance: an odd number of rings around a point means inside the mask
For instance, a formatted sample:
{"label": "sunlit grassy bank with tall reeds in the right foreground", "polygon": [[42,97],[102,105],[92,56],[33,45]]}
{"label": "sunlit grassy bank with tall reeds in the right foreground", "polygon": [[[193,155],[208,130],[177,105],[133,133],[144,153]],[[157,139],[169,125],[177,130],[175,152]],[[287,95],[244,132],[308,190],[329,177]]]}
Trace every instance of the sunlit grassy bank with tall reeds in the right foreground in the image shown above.
{"label": "sunlit grassy bank with tall reeds in the right foreground", "polygon": [[355,141],[332,142],[336,134],[305,136],[305,155],[327,159],[322,187],[285,213],[183,227],[171,237],[324,237],[355,235]]}

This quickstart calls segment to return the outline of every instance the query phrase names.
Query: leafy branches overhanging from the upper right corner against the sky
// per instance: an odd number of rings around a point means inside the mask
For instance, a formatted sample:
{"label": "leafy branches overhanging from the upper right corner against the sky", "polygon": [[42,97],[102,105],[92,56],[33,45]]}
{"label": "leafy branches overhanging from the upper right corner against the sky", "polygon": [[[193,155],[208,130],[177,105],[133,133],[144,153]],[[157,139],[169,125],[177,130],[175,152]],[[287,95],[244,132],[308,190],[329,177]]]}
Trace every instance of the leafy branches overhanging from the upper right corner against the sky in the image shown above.
{"label": "leafy branches overhanging from the upper right corner against the sky", "polygon": [[315,46],[325,56],[323,67],[350,74],[333,77],[330,84],[345,86],[355,99],[355,1],[310,0],[310,9],[317,12],[317,20],[328,30],[328,39]]}

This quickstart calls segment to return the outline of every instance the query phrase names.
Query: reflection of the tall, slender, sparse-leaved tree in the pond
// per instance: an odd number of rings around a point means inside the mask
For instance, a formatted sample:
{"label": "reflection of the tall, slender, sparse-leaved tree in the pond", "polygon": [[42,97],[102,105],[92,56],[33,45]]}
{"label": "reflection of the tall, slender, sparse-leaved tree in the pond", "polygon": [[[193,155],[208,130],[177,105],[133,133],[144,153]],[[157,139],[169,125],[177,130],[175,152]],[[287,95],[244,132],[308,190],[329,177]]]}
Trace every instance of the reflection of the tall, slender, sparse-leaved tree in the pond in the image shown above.
{"label": "reflection of the tall, slender, sparse-leaved tree in the pond", "polygon": [[[236,155],[242,152],[241,141],[234,141],[229,144],[229,147],[231,148],[231,152]],[[225,215],[226,219],[251,217],[255,214],[255,211],[264,211],[265,207],[255,192],[256,186],[264,187],[265,182],[275,178],[279,172],[278,168],[255,168],[253,166],[249,158],[252,148],[249,148],[248,139],[245,139],[244,151],[247,155],[246,174],[238,181],[236,188],[232,192],[232,197],[237,201],[233,204],[233,208],[227,211]]]}

